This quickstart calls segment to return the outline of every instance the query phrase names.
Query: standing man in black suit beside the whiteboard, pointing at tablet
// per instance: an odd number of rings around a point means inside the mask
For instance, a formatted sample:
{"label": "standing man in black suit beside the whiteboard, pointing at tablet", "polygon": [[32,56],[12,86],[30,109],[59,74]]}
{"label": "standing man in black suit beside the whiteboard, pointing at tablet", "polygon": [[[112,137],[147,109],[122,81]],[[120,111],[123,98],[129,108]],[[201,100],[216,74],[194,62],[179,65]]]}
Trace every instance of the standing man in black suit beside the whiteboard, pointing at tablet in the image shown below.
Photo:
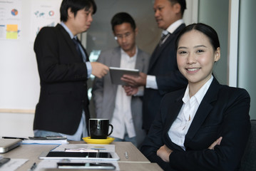
{"label": "standing man in black suit beside the whiteboard, pointing at tablet", "polygon": [[88,77],[101,78],[108,67],[90,63],[76,35],[86,31],[96,13],[93,0],[63,0],[61,24],[42,28],[34,51],[41,92],[34,118],[35,136],[62,135],[81,140],[88,135]]}

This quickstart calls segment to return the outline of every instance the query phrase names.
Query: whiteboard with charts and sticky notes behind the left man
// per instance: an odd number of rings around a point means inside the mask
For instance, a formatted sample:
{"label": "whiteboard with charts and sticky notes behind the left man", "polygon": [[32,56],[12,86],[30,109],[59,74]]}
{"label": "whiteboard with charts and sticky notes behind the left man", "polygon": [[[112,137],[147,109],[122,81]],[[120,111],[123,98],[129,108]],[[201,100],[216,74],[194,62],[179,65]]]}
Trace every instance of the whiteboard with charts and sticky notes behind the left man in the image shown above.
{"label": "whiteboard with charts and sticky notes behind the left man", "polygon": [[40,81],[34,39],[41,27],[60,21],[60,6],[61,0],[0,0],[0,109],[35,109]]}

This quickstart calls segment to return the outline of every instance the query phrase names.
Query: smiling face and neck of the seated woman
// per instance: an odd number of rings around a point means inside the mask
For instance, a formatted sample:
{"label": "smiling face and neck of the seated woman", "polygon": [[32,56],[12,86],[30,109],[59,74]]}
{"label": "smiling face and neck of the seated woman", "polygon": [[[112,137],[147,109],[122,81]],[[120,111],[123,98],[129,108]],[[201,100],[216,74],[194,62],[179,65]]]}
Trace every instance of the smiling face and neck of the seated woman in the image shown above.
{"label": "smiling face and neck of the seated woman", "polygon": [[193,30],[180,37],[177,63],[180,73],[188,79],[190,97],[211,78],[214,63],[219,59],[220,47],[213,48],[204,33]]}

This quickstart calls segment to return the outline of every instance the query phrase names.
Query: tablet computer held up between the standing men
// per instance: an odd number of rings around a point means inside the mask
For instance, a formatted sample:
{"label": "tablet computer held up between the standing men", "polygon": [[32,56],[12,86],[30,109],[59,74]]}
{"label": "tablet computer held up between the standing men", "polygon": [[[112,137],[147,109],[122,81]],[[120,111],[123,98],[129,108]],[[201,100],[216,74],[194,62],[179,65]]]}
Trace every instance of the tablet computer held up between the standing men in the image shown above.
{"label": "tablet computer held up between the standing men", "polygon": [[118,85],[127,85],[124,81],[121,81],[121,77],[126,74],[130,76],[139,76],[140,71],[138,69],[126,69],[109,67],[109,73],[111,74],[111,82]]}

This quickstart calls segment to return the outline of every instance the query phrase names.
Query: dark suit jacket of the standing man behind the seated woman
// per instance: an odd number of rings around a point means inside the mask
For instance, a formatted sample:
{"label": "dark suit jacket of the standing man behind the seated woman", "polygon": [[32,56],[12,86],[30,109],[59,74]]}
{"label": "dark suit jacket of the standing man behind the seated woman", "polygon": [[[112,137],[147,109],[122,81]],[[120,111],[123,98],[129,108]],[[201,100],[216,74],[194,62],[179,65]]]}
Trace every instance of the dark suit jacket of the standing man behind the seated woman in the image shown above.
{"label": "dark suit jacket of the standing man behind the seated woman", "polygon": [[155,76],[158,90],[145,88],[143,96],[143,128],[149,130],[158,113],[160,100],[167,92],[184,88],[188,81],[177,66],[175,40],[185,27],[181,24],[161,46],[157,46],[150,57],[148,75]]}

